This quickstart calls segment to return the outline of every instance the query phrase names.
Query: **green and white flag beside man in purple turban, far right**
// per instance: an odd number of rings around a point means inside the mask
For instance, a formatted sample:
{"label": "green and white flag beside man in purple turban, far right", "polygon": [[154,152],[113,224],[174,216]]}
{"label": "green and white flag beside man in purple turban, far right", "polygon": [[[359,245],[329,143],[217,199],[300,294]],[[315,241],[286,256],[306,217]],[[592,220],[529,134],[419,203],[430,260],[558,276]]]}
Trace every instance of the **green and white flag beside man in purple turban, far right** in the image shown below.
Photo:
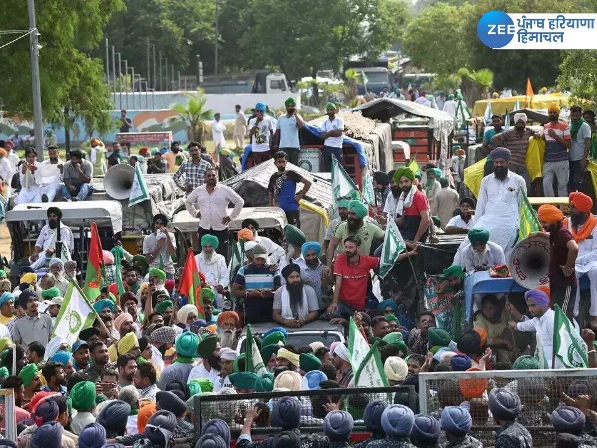
{"label": "green and white flag beside man in purple turban, far right", "polygon": [[577,327],[570,322],[557,303],[553,305],[553,312],[553,359],[560,360],[565,369],[587,369],[587,345],[580,337]]}

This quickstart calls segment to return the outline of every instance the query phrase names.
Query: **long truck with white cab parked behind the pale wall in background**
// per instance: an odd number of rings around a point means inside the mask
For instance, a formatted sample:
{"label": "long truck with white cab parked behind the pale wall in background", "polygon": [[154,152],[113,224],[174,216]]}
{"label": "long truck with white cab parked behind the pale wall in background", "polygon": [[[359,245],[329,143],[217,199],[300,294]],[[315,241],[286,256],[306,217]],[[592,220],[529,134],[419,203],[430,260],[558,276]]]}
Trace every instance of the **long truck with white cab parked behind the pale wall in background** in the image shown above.
{"label": "long truck with white cab parked behind the pale wall in background", "polygon": [[226,73],[204,76],[205,93],[287,93],[286,76],[272,70],[251,70],[248,73]]}

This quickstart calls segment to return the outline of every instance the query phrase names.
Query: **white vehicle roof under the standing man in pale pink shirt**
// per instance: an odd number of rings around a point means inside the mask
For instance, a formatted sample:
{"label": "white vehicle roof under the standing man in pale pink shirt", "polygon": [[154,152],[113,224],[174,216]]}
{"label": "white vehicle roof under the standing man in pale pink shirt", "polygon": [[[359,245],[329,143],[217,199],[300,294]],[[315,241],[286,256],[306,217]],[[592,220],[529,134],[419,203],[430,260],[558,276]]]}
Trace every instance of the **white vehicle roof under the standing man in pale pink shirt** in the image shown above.
{"label": "white vehicle roof under the standing man in pale pink shirt", "polygon": [[[232,208],[229,208],[227,213],[232,213],[232,210]],[[284,210],[279,207],[244,207],[241,214],[230,222],[228,228],[232,231],[242,229],[242,222],[247,218],[256,220],[260,229],[275,228],[282,231],[288,224]],[[190,216],[188,211],[181,210],[174,215],[172,221],[168,224],[168,227],[174,226],[179,228],[181,232],[196,232],[199,228],[199,219]]]}

